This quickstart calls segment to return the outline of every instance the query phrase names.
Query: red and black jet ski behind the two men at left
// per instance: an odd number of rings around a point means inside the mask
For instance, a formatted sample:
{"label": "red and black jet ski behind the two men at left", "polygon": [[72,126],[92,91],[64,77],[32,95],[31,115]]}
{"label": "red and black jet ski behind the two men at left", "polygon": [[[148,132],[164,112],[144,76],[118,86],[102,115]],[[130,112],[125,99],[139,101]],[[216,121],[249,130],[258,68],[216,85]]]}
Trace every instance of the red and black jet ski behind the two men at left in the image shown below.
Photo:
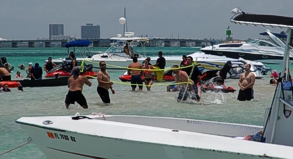
{"label": "red and black jet ski behind the two men at left", "polygon": [[[97,77],[97,73],[93,71],[93,65],[79,66],[81,67],[80,75],[87,78]],[[59,64],[58,66],[51,69],[46,73],[46,78],[58,78],[58,77],[69,77],[71,76],[71,68],[69,64]]]}

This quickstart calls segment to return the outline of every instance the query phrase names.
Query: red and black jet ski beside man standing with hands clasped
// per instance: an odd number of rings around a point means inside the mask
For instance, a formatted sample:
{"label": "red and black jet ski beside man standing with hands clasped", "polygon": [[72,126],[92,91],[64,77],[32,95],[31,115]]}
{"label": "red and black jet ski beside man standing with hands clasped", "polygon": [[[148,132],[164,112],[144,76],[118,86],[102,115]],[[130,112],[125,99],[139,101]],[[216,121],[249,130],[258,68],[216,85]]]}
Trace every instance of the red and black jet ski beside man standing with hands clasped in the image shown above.
{"label": "red and black jet ski beside man standing with hands clasped", "polygon": [[235,92],[236,90],[232,86],[225,86],[222,77],[213,77],[201,85],[201,91],[215,91],[215,92]]}

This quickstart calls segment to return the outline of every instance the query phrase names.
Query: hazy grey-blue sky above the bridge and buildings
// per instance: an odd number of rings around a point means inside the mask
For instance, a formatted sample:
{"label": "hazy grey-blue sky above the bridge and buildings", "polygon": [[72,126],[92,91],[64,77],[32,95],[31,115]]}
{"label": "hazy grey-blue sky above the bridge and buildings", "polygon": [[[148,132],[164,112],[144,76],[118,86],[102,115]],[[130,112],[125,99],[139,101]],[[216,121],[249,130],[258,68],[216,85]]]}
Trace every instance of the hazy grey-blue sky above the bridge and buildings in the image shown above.
{"label": "hazy grey-blue sky above the bridge and buildings", "polygon": [[260,38],[270,29],[230,22],[235,7],[244,12],[293,17],[292,0],[0,0],[0,37],[49,37],[49,24],[64,24],[64,34],[81,37],[81,26],[100,25],[101,38],[122,33],[119,18],[127,10],[128,31],[148,37],[225,39]]}

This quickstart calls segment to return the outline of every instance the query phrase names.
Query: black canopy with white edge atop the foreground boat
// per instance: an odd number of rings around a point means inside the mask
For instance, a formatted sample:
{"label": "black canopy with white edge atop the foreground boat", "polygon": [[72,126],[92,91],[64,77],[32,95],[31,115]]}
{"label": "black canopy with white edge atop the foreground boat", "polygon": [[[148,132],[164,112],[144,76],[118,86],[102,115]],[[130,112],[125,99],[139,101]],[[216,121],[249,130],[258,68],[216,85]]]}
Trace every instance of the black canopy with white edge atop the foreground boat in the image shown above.
{"label": "black canopy with white edge atop the foreground boat", "polygon": [[293,29],[293,18],[277,15],[252,14],[238,8],[232,10],[235,15],[230,19],[235,24],[251,24]]}

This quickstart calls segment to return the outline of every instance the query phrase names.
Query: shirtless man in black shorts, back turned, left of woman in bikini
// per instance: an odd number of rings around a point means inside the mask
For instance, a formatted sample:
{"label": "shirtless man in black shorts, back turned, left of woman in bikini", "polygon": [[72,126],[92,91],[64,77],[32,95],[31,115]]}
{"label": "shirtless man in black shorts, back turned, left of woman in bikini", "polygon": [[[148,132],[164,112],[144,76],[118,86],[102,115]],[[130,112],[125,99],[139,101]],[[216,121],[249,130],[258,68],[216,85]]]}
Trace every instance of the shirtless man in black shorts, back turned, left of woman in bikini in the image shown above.
{"label": "shirtless man in black shorts, back turned, left of woman in bikini", "polygon": [[[137,57],[133,57],[132,63],[128,66],[128,74],[131,75],[131,87],[132,91],[135,91],[136,84],[138,85],[139,90],[142,91],[142,65],[137,61]],[[139,69],[139,70],[138,70]]]}

